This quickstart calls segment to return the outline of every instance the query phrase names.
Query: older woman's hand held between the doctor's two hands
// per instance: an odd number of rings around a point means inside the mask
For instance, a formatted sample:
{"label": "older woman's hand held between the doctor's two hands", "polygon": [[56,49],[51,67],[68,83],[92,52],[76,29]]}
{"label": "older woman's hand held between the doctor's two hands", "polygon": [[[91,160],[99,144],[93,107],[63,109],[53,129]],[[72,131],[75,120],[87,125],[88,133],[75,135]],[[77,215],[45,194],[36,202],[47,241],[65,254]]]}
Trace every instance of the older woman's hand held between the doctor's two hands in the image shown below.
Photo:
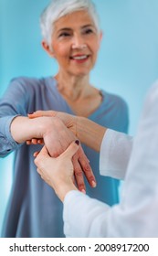
{"label": "older woman's hand held between the doctor's two hands", "polygon": [[[68,130],[66,125],[57,116],[39,118],[48,119],[45,123],[46,127],[43,133],[43,140],[49,155],[58,157],[58,155],[61,155],[67,149],[72,141],[77,140],[77,137]],[[73,156],[72,162],[74,165],[75,180],[79,190],[86,191],[83,173],[87,177],[90,186],[96,187],[96,181],[90,167],[90,162],[84,154],[81,145],[79,145],[78,152]]]}

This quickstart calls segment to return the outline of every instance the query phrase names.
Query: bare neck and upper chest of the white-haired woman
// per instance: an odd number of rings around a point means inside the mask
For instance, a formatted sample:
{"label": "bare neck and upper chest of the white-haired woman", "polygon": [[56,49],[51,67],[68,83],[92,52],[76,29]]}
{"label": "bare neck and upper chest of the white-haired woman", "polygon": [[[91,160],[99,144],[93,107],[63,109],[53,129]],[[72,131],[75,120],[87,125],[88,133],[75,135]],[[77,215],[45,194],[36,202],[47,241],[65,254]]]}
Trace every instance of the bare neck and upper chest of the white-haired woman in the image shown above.
{"label": "bare neck and upper chest of the white-haired woman", "polygon": [[58,73],[55,79],[58,82],[58,92],[75,114],[88,117],[100,106],[102,95],[90,85],[88,76],[68,77]]}

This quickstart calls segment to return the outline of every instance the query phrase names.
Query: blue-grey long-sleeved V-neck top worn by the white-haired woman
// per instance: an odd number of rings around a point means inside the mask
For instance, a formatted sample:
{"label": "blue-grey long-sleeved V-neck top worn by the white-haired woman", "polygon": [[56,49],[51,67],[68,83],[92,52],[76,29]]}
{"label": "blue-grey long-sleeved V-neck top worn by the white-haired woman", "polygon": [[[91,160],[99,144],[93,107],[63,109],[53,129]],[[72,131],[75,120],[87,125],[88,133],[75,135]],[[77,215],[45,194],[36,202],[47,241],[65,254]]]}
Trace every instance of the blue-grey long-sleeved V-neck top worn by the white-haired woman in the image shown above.
{"label": "blue-grey long-sleeved V-neck top worn by the white-haired woman", "polygon": [[[106,91],[90,120],[127,132],[128,108],[120,97]],[[37,110],[73,113],[58,92],[52,77],[17,78],[11,81],[0,101],[0,156],[15,151],[14,180],[5,213],[2,237],[63,237],[62,203],[52,188],[38,176],[33,153],[40,145],[16,144],[9,127],[13,118]],[[74,114],[74,113],[73,113]],[[99,154],[83,145],[98,186],[87,186],[87,194],[113,205],[118,202],[118,181],[99,174]]]}

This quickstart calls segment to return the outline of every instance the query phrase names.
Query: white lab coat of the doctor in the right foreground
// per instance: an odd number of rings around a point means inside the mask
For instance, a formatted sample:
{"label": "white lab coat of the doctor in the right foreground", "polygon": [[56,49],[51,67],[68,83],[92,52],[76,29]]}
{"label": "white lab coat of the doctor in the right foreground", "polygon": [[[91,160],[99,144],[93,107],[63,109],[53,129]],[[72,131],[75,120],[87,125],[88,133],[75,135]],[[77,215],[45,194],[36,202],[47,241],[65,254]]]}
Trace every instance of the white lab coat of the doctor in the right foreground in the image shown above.
{"label": "white lab coat of the doctor in the right foreground", "polygon": [[124,177],[120,204],[109,207],[79,191],[68,192],[66,236],[158,237],[158,83],[147,95],[133,144],[123,133],[105,134],[100,174]]}

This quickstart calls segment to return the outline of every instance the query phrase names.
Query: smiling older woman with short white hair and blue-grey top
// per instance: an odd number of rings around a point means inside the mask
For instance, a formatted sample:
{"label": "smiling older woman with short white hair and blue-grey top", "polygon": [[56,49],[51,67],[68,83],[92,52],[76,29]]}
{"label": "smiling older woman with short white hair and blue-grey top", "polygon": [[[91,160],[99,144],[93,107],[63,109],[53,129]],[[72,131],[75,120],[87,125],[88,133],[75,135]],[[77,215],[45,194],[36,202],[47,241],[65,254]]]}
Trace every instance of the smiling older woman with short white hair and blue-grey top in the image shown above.
{"label": "smiling older woman with short white hair and blue-grey top", "polygon": [[[0,101],[0,155],[16,151],[14,181],[5,214],[3,237],[63,237],[62,204],[37,175],[33,153],[43,139],[50,155],[60,155],[74,139],[58,118],[28,119],[27,113],[55,110],[88,117],[120,132],[127,132],[128,110],[118,96],[90,84],[100,48],[101,32],[90,0],[51,1],[41,16],[42,46],[58,62],[58,74],[47,78],[21,77],[11,81]],[[27,140],[35,138],[35,144]],[[34,143],[34,140],[32,140]],[[85,192],[83,169],[91,197],[110,205],[118,202],[118,182],[99,175],[99,154],[83,145],[73,159],[79,190]]]}

